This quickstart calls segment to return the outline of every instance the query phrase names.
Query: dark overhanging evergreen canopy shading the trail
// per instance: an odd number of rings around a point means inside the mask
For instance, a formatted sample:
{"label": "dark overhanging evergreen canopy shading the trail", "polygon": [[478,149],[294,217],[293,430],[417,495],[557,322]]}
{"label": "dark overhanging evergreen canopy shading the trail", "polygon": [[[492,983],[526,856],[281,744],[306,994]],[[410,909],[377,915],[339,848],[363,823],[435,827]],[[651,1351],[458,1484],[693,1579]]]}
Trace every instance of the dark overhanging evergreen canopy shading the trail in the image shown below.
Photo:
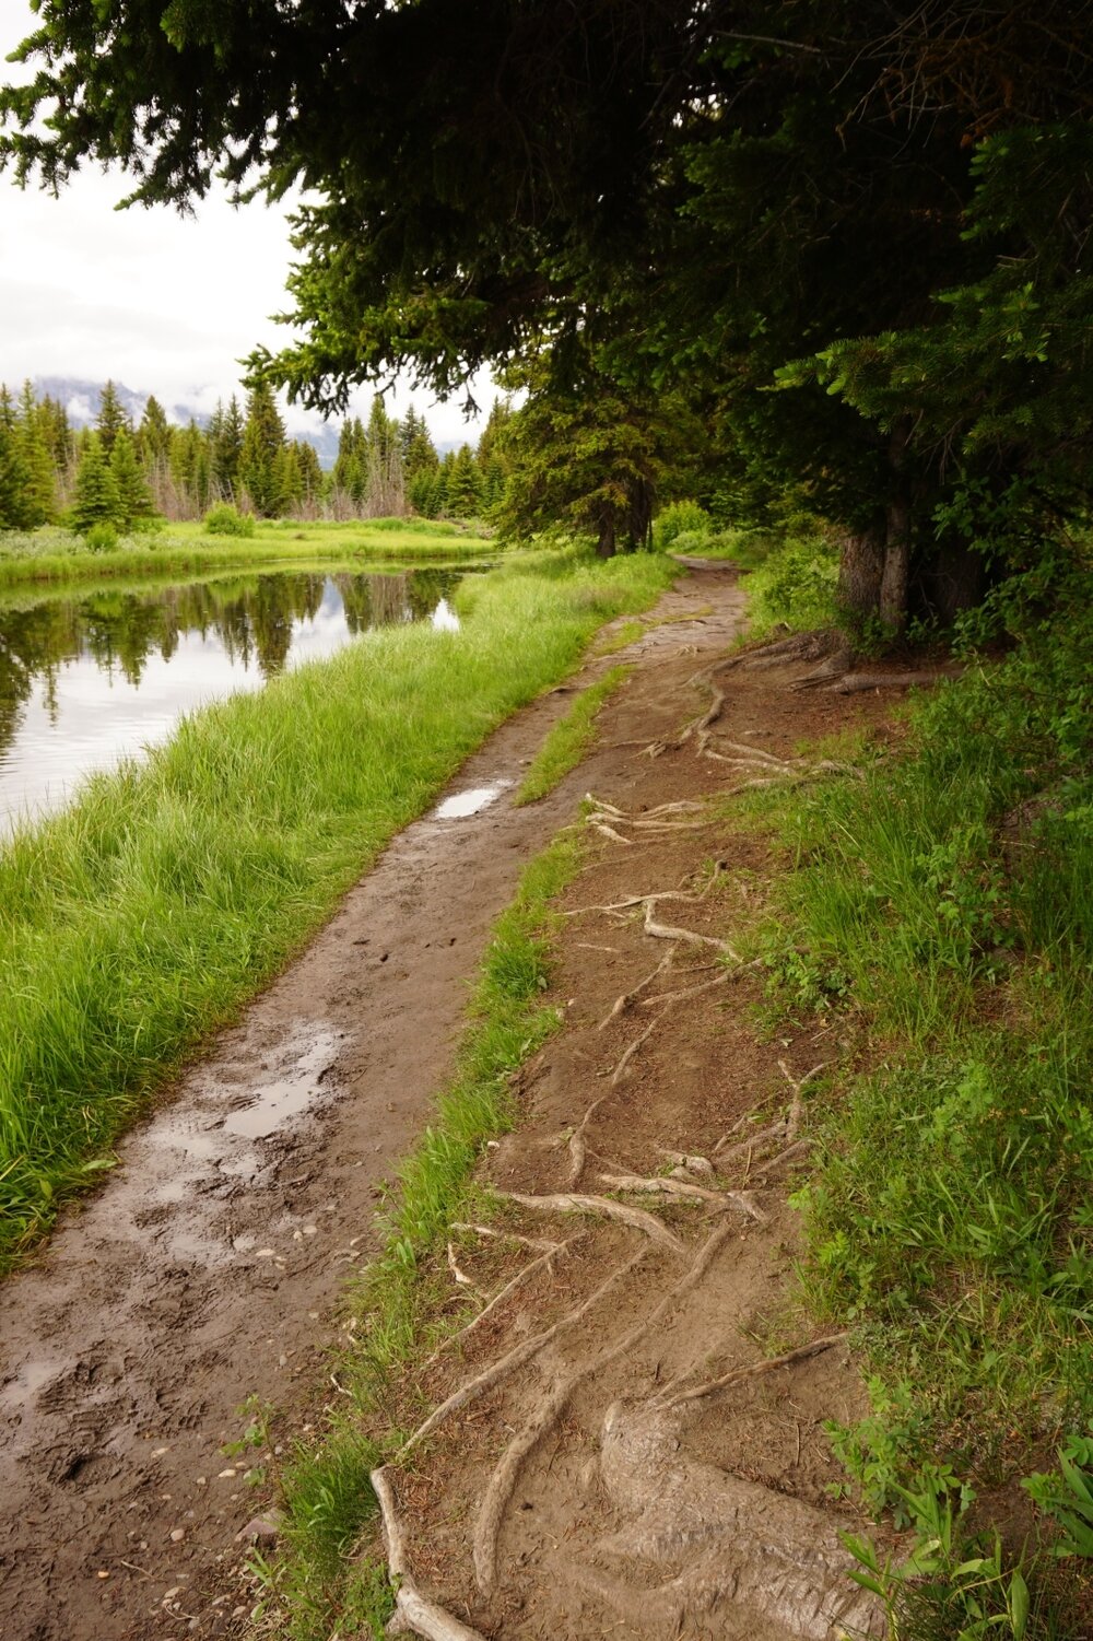
{"label": "dark overhanging evergreen canopy shading the trail", "polygon": [[688,397],[737,509],[839,525],[894,624],[962,520],[1085,505],[1088,3],[41,0],[20,54],[25,179],[305,190],[299,340],[253,366],[307,404],[594,358]]}

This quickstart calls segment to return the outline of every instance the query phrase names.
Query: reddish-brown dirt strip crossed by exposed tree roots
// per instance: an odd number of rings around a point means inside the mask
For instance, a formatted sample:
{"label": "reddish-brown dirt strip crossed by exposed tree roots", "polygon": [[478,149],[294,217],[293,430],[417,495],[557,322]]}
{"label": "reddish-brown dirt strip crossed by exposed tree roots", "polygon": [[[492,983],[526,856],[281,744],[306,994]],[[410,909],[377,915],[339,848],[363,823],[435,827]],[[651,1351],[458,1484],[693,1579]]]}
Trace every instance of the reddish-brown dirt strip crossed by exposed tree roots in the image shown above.
{"label": "reddish-brown dirt strip crossed by exposed tree roots", "polygon": [[[730,607],[706,571],[691,587]],[[522,1121],[479,1170],[510,1198],[494,1221],[510,1239],[453,1246],[484,1296],[530,1280],[427,1369],[428,1405],[456,1400],[384,1472],[404,1570],[471,1636],[878,1633],[847,1579],[839,1531],[860,1523],[830,1503],[824,1436],[865,1411],[860,1375],[789,1298],[809,1073],[852,1047],[848,1027],[765,1039],[761,975],[720,942],[778,870],[729,794],[825,778],[796,743],[886,734],[893,694],[799,694],[799,661],[704,681],[716,650],[701,629],[661,627],[601,717],[579,783],[599,819],[551,991],[566,1024],[524,1068]],[[568,1211],[574,1191],[596,1211]],[[645,1218],[606,1218],[620,1201]],[[545,1262],[542,1239],[565,1250]],[[404,1428],[414,1410],[407,1393]]]}

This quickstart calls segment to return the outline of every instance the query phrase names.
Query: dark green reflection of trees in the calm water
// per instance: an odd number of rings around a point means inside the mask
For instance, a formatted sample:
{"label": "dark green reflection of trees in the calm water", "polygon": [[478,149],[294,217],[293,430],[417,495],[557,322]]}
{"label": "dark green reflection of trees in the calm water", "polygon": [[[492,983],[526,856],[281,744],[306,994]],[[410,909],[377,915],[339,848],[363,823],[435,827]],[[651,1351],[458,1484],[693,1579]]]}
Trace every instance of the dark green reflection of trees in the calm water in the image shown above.
{"label": "dark green reflection of trees in the calm water", "polygon": [[428,620],[460,574],[289,571],[158,592],[108,587],[30,609],[0,606],[0,753],[11,742],[38,678],[46,683],[48,711],[56,712],[56,681],[64,661],[90,656],[103,671],[117,668],[136,686],[151,655],[169,661],[182,633],[194,632],[202,638],[215,635],[233,663],[246,671],[258,663],[263,678],[272,678],[284,670],[294,625],[313,620],[323,604],[332,615],[343,612],[348,632],[356,637],[371,627]]}

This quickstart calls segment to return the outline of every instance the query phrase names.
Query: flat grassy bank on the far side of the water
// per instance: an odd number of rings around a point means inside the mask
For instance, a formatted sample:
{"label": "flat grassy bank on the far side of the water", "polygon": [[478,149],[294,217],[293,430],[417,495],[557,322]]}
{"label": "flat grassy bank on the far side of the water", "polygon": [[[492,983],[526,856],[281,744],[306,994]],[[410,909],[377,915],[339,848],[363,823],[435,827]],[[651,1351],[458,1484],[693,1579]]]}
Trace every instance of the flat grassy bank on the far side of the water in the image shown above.
{"label": "flat grassy bank on the far side of the water", "polygon": [[481,558],[491,542],[460,523],[430,519],[364,519],[346,523],[259,522],[251,537],[210,535],[200,523],[125,537],[90,551],[71,530],[0,532],[0,587],[21,583],[95,581],[105,576],[200,574],[231,565],[379,563]]}

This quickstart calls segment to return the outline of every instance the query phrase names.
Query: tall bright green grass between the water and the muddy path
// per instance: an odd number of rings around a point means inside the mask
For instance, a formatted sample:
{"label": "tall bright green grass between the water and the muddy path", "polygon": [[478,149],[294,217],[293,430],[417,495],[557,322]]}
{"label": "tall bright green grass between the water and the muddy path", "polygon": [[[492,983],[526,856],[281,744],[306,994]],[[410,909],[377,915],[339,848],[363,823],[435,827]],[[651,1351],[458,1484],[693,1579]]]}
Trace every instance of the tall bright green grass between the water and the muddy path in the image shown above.
{"label": "tall bright green grass between the water and the muddy path", "polygon": [[489,730],[668,579],[576,553],[476,576],[461,632],[386,629],[212,706],[0,848],[0,1265]]}

